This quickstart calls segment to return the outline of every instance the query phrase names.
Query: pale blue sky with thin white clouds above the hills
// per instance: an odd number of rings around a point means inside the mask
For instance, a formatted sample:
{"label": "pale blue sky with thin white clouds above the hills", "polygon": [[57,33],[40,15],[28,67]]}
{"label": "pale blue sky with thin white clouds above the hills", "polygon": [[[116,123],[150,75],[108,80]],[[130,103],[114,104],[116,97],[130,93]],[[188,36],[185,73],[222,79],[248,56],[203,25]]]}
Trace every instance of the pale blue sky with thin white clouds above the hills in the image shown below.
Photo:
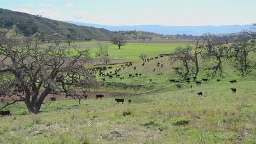
{"label": "pale blue sky with thin white clouds above the hills", "polygon": [[256,22],[255,0],[9,0],[0,8],[60,21],[99,25],[245,25]]}

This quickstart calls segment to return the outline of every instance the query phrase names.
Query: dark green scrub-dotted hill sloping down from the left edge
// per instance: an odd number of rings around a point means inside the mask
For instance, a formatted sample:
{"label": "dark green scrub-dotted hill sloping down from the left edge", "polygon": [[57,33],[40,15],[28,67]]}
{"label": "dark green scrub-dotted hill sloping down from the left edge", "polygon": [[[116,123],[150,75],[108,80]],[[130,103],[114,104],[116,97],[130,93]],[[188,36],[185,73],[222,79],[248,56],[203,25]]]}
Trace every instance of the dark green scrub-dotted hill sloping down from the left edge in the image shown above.
{"label": "dark green scrub-dotted hill sloping down from the left edge", "polygon": [[[77,26],[71,23],[46,19],[39,15],[0,9],[0,31],[9,35],[39,35],[46,39],[65,38],[108,40],[115,34],[103,28]],[[11,30],[11,31],[10,31]]]}

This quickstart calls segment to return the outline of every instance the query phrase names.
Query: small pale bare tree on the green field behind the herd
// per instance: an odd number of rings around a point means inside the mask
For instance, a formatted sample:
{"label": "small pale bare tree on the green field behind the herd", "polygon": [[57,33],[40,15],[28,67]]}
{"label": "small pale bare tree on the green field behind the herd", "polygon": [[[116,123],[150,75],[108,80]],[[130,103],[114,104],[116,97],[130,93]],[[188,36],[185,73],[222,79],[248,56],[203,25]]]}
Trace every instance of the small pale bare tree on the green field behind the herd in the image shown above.
{"label": "small pale bare tree on the green field behind the herd", "polygon": [[103,59],[104,64],[108,65],[108,45],[103,43],[98,43],[98,48],[96,50],[96,56],[99,56]]}

